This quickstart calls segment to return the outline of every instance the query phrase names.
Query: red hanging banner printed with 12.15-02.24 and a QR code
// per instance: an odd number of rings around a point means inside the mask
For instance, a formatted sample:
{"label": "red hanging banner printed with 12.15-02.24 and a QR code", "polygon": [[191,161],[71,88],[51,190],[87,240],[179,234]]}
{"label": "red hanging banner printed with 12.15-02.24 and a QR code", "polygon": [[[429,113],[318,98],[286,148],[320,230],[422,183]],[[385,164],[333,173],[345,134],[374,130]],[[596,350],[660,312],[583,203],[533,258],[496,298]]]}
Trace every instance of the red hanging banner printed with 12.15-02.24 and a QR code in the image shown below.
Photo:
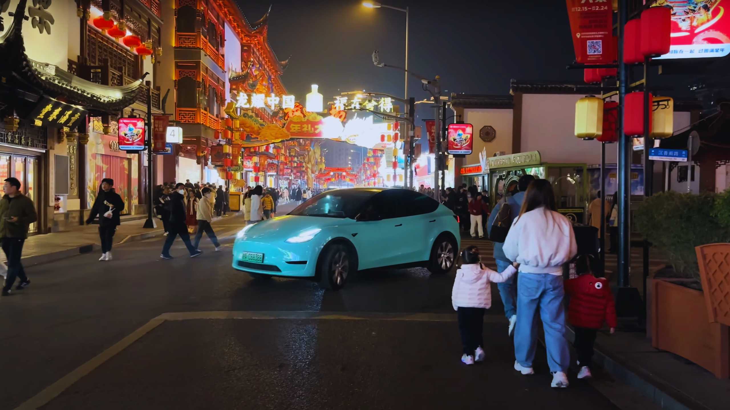
{"label": "red hanging banner printed with 12.15-02.24 and a QR code", "polygon": [[577,63],[612,63],[613,29],[611,1],[566,0]]}

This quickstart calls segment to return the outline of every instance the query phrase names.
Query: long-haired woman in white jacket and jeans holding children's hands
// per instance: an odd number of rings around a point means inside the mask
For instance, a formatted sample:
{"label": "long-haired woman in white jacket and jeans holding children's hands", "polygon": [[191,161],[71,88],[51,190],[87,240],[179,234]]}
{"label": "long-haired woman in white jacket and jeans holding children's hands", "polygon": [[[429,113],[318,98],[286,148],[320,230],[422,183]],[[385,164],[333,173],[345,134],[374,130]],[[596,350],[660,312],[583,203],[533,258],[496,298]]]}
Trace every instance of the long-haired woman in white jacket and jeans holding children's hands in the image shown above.
{"label": "long-haired woman in white jacket and jeans holding children's hands", "polygon": [[545,330],[545,349],[553,374],[552,387],[568,387],[570,364],[565,339],[563,264],[577,253],[570,221],[555,212],[555,194],[547,179],[537,179],[527,189],[520,215],[504,240],[504,255],[520,264],[517,283],[515,370],[533,374],[537,329],[536,314]]}

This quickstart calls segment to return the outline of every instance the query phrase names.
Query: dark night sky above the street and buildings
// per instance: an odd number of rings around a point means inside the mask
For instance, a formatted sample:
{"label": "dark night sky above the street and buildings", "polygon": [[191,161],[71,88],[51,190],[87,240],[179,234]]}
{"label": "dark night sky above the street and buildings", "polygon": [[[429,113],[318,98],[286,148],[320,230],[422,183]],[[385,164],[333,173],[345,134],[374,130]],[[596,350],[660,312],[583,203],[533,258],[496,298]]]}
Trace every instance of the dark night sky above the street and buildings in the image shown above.
{"label": "dark night sky above the street and buildings", "polygon": [[[282,80],[303,100],[311,84],[325,98],[347,90],[402,96],[404,73],[376,67],[372,51],[386,64],[404,65],[405,13],[367,9],[361,1],[272,1],[269,43],[280,60],[291,55]],[[441,76],[450,93],[507,94],[510,79],[520,82],[578,82],[564,2],[484,1],[383,2],[410,7],[409,66],[424,77]],[[267,1],[239,0],[253,23]],[[445,7],[447,5],[447,7]],[[549,62],[549,63],[546,63]],[[430,97],[420,82],[409,82],[417,100]],[[325,101],[328,101],[327,99]],[[426,104],[420,104],[424,108]],[[420,109],[419,117],[433,117]]]}

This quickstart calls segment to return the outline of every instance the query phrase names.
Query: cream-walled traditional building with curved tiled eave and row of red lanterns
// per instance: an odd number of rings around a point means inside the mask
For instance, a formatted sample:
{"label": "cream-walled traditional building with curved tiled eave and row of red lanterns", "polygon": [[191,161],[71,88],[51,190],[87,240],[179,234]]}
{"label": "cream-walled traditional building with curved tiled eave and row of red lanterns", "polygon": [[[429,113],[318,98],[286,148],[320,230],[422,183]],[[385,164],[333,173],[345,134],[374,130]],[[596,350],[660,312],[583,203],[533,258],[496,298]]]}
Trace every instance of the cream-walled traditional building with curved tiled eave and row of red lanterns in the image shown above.
{"label": "cream-walled traditional building with curved tiled eave and row of red lanterns", "polygon": [[115,128],[147,111],[147,93],[161,112],[159,5],[13,0],[14,16],[0,16],[0,177],[18,177],[37,204],[32,232],[78,225],[104,177],[127,212],[144,211],[146,163],[118,150]]}

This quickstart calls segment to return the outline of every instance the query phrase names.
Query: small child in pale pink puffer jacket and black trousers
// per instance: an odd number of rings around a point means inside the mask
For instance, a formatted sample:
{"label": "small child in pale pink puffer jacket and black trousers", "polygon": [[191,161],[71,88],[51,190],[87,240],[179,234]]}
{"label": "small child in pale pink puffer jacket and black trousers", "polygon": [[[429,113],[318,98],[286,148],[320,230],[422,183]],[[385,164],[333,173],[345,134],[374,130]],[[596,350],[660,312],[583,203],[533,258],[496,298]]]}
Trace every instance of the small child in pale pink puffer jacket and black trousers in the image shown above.
{"label": "small child in pale pink puffer jacket and black trousers", "polygon": [[458,330],[464,355],[461,361],[473,365],[484,360],[482,330],[484,311],[492,306],[491,282],[504,282],[517,272],[510,266],[502,273],[482,265],[477,247],[467,247],[461,252],[463,264],[456,271],[451,290],[451,304],[458,314]]}

